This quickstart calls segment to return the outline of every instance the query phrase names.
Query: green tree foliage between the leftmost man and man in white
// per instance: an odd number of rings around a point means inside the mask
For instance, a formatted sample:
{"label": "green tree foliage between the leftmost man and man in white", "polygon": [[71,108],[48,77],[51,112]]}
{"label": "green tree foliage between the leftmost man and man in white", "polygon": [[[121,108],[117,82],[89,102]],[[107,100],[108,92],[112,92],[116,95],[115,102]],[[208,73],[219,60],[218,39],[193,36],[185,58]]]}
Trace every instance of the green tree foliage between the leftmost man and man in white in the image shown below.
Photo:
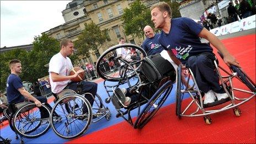
{"label": "green tree foliage between the leftmost man and man in white", "polygon": [[10,74],[8,63],[14,58],[22,61],[22,74],[20,74],[22,81],[35,82],[38,78],[49,74],[48,68],[44,65],[60,51],[59,42],[42,34],[42,36],[35,36],[33,45],[31,51],[15,49],[1,54],[1,90],[6,88],[7,77]]}

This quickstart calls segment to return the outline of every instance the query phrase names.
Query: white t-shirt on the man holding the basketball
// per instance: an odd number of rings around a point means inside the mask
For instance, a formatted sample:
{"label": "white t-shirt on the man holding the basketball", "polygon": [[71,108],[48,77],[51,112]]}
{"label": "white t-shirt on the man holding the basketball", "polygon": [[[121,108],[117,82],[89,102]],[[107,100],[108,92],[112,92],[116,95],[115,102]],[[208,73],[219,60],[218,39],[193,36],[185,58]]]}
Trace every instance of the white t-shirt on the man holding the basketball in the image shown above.
{"label": "white t-shirt on the man holding the basketball", "polygon": [[58,54],[52,56],[50,62],[49,62],[49,77],[50,77],[50,84],[51,84],[51,91],[53,93],[60,93],[61,90],[63,90],[68,82],[67,81],[61,81],[61,82],[53,82],[51,78],[50,72],[58,73],[60,76],[68,76],[70,74],[70,71],[72,70],[73,65],[68,57],[63,57],[60,52]]}

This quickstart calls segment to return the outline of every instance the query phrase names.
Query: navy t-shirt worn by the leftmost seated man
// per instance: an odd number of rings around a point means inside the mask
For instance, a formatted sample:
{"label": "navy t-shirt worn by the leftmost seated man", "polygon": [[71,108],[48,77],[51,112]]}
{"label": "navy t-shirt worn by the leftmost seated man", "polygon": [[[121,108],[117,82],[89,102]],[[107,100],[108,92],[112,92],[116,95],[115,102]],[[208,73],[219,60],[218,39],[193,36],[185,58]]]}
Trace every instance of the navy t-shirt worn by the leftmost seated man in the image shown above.
{"label": "navy t-shirt worn by the leftmost seated man", "polygon": [[18,89],[22,87],[22,79],[11,73],[7,79],[6,84],[8,103],[19,103],[24,101],[24,96],[18,91]]}

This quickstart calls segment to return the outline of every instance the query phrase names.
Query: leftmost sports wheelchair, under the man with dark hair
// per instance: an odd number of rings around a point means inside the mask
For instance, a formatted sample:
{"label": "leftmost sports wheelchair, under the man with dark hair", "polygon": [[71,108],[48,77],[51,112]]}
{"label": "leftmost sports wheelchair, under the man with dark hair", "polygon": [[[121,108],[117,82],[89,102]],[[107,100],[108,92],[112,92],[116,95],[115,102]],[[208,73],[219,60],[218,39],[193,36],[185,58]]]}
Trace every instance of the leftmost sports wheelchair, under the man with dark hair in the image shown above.
{"label": "leftmost sports wheelchair, under the man with dark hair", "polygon": [[[18,135],[20,136],[20,143],[24,143],[23,137],[36,138],[44,135],[50,129],[49,119],[51,113],[44,103],[40,109],[32,102],[9,104],[6,110],[10,113],[8,114],[6,111],[10,129],[15,132],[16,139],[19,138]],[[41,118],[42,110],[48,115],[44,116],[45,118]]]}

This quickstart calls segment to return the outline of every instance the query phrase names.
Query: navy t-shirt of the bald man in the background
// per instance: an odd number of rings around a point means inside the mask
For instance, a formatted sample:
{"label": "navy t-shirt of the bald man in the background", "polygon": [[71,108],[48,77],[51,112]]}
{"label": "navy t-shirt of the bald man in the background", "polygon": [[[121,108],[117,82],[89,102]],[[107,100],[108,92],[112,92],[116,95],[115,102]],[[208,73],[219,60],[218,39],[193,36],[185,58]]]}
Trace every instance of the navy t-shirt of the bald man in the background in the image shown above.
{"label": "navy t-shirt of the bald man in the background", "polygon": [[158,38],[160,34],[154,34],[153,38],[146,38],[141,45],[148,55],[154,55],[163,51],[163,47],[159,44]]}

